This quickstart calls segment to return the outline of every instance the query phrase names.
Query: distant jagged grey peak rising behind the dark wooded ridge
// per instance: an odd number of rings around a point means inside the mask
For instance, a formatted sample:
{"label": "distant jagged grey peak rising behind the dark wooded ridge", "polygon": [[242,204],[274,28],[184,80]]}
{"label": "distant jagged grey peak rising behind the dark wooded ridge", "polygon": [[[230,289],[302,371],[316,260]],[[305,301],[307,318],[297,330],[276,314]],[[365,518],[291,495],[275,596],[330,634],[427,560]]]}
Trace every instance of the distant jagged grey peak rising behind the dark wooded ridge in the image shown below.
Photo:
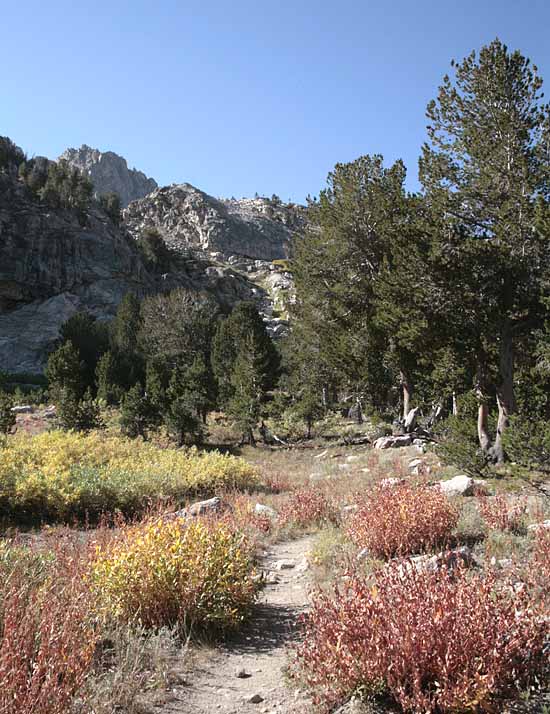
{"label": "distant jagged grey peak rising behind the dark wooded ridge", "polygon": [[92,180],[96,195],[118,193],[123,208],[157,188],[156,181],[141,171],[129,169],[126,159],[113,151],[99,151],[83,144],[80,149],[67,149],[59,158],[85,173]]}

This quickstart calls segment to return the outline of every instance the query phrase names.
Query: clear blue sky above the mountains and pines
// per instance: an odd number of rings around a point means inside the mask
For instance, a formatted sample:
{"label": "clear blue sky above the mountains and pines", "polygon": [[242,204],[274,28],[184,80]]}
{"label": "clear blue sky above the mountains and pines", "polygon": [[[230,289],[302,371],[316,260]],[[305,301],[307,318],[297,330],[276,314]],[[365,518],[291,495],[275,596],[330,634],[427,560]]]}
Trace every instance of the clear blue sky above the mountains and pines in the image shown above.
{"label": "clear blue sky above the mountains and pines", "polygon": [[[548,0],[21,0],[1,5],[0,134],[83,143],[160,184],[303,201],[338,161],[403,158],[452,58],[499,36],[550,86]],[[550,95],[550,89],[548,89]]]}

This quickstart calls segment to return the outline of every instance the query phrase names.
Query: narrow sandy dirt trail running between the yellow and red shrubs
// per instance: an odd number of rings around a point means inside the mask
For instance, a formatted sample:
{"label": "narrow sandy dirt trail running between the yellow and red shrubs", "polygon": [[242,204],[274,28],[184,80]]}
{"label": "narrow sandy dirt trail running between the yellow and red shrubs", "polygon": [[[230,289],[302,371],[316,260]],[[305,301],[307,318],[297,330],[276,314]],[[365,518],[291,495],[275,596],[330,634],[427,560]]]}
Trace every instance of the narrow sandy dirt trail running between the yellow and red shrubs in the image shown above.
{"label": "narrow sandy dirt trail running between the yellow and red shrubs", "polygon": [[[304,714],[309,709],[307,699],[286,686],[283,668],[296,620],[308,606],[308,572],[299,566],[313,541],[306,536],[270,546],[262,570],[273,571],[281,560],[295,567],[275,571],[278,582],[262,590],[250,622],[205,658],[163,714]],[[237,676],[242,670],[248,676]],[[255,695],[262,700],[251,702]]]}

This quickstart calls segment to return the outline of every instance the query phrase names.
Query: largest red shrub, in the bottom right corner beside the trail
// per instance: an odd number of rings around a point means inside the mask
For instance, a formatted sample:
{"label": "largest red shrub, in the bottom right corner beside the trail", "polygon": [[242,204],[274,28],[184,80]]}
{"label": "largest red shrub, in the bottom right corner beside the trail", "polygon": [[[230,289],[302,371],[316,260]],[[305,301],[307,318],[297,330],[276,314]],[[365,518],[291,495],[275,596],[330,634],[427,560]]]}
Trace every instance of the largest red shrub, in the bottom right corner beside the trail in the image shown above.
{"label": "largest red shrub, in the bottom right corner beside the trail", "polygon": [[498,588],[493,573],[354,577],[314,598],[294,676],[327,708],[385,692],[405,712],[495,711],[495,697],[544,671],[547,625],[530,605],[527,590]]}

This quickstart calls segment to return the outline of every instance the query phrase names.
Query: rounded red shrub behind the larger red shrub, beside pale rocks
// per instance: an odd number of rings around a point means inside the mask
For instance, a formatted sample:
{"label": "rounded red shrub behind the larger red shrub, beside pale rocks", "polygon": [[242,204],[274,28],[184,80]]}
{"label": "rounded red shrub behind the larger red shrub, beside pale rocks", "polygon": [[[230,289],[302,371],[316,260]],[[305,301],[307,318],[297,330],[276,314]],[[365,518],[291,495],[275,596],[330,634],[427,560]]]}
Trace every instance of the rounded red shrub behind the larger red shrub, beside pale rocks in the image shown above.
{"label": "rounded red shrub behind the larger red shrub, beside pale rocks", "polygon": [[392,558],[443,545],[458,517],[458,509],[437,488],[378,486],[351,516],[347,534],[374,557]]}

